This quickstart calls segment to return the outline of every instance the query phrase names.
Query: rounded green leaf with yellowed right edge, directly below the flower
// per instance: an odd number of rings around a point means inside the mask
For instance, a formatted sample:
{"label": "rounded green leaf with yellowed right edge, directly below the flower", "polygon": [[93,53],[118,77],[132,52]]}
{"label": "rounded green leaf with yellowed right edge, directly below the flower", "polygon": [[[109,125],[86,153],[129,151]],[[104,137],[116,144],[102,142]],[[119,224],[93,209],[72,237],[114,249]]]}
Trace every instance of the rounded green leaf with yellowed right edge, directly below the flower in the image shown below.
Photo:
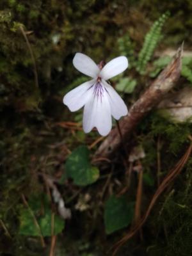
{"label": "rounded green leaf with yellowed right edge, directly below the flower", "polygon": [[91,166],[89,154],[86,146],[80,146],[70,154],[66,161],[67,177],[72,178],[78,186],[92,184],[99,178],[99,169]]}

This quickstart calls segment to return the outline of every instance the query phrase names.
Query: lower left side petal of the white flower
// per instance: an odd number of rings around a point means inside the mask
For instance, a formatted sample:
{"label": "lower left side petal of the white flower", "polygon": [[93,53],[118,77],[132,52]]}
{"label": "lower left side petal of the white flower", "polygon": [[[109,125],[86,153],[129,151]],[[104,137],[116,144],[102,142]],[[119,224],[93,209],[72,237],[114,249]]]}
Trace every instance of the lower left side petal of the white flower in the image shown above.
{"label": "lower left side petal of the white flower", "polygon": [[92,97],[92,92],[88,89],[94,83],[95,79],[77,86],[63,97],[63,103],[67,105],[72,112],[79,110],[86,104],[90,97]]}

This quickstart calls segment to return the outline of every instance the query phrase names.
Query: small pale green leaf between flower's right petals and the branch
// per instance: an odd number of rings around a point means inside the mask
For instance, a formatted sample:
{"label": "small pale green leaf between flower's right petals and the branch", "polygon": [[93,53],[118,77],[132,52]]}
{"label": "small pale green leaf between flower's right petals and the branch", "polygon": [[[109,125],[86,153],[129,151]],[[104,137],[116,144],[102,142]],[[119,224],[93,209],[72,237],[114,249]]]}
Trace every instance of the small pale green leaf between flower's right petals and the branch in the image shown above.
{"label": "small pale green leaf between flower's right petals and the branch", "polygon": [[134,91],[136,84],[136,79],[124,77],[120,79],[118,84],[116,84],[116,90],[118,92],[132,93]]}

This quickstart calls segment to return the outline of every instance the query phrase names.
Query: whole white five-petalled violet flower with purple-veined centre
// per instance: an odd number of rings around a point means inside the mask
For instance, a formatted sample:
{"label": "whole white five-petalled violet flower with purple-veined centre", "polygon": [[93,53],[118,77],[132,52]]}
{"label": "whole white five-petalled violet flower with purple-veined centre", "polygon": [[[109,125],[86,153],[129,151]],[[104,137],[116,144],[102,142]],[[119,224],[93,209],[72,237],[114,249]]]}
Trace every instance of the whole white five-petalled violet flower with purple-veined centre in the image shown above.
{"label": "whole white five-petalled violet flower with purple-veined centre", "polygon": [[84,106],[84,132],[90,132],[96,127],[100,135],[106,136],[112,127],[111,115],[118,120],[128,113],[124,100],[106,80],[124,72],[128,67],[128,60],[125,56],[120,56],[103,67],[103,61],[96,65],[90,57],[77,52],[73,64],[77,70],[93,79],[68,92],[63,103],[72,112]]}

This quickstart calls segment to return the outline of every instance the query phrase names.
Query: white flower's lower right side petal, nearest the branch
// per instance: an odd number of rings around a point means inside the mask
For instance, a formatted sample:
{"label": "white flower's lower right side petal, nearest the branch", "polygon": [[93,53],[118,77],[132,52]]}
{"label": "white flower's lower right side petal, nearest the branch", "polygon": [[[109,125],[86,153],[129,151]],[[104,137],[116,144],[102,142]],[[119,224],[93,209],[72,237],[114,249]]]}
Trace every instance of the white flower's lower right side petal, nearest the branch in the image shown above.
{"label": "white flower's lower right side petal, nearest the branch", "polygon": [[106,81],[102,80],[106,90],[108,91],[108,99],[111,107],[111,115],[119,120],[121,116],[125,116],[128,113],[127,106],[124,100],[118,95],[118,93],[109,85]]}

